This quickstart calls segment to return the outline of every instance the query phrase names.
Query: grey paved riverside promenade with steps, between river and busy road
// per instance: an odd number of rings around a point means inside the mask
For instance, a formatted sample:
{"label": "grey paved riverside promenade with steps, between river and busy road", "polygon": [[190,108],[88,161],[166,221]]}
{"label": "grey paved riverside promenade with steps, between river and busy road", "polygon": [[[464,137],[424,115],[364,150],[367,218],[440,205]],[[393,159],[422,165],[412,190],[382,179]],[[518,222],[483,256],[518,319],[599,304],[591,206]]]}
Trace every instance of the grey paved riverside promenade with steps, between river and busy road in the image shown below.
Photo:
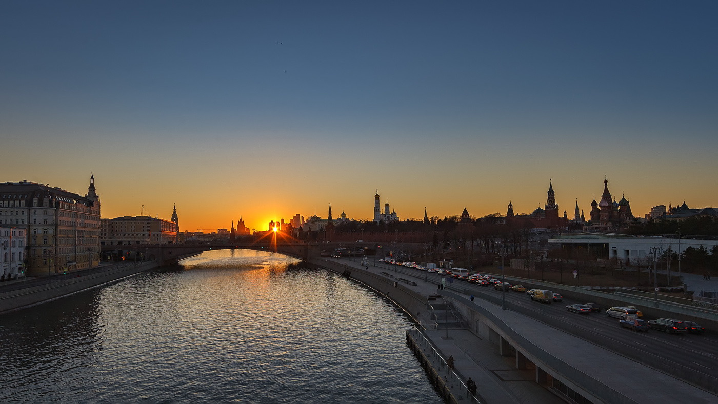
{"label": "grey paved riverside promenade with steps, between river and busy road", "polygon": [[[460,287],[441,291],[435,280],[425,282],[424,273],[419,271],[416,271],[415,276],[393,273],[391,269],[375,267],[371,262],[365,268],[359,261],[352,258],[317,258],[310,263],[338,273],[343,271],[345,276],[348,276],[346,270],[370,273],[367,278],[369,281],[385,278],[387,283],[393,283],[394,288],[400,284],[401,288],[398,289],[423,296],[433,302],[434,306],[439,306],[446,299],[462,309],[462,314],[480,312],[485,316],[481,321],[475,320],[476,327],[467,321],[467,326],[462,329],[435,329],[437,320],[432,319],[431,310],[421,310],[417,304],[404,307],[423,326],[408,331],[408,334],[412,334],[411,340],[418,344],[416,348],[421,351],[419,359],[422,365],[427,362],[434,367],[434,372],[444,378],[445,383],[442,385],[452,389],[452,397],[456,402],[470,403],[471,398],[467,397],[465,387],[459,382],[453,382],[446,370],[445,360],[449,355],[454,357],[454,369],[462,379],[460,381],[465,383],[471,377],[477,383],[477,399],[480,403],[561,403],[569,400],[570,394],[569,391],[569,394],[559,397],[562,395],[559,391],[568,391],[560,390],[562,385],[580,391],[583,398],[591,403],[653,403],[656,400],[668,403],[718,403],[718,396],[610,349],[574,337],[529,316],[502,310],[500,306],[488,301],[475,299],[472,302]],[[350,278],[355,276],[352,274]],[[361,281],[360,276],[357,278]],[[454,285],[461,286],[460,283]],[[379,284],[369,286],[400,303],[398,300],[401,300],[401,295],[397,294],[398,291],[383,288],[388,291],[384,292]],[[393,299],[392,296],[400,296],[400,299]],[[490,323],[484,319],[492,318],[505,327],[508,334],[498,339],[482,336],[479,327]],[[421,344],[424,338],[426,342]],[[524,340],[523,345],[516,343],[521,342],[521,339]],[[516,344],[515,349],[510,349],[514,347],[510,347],[509,342]],[[528,346],[530,349],[524,349]],[[540,364],[541,368],[539,365],[532,367],[528,359]],[[546,373],[553,375],[551,380],[554,382],[546,382]],[[431,372],[427,374],[434,375]]]}

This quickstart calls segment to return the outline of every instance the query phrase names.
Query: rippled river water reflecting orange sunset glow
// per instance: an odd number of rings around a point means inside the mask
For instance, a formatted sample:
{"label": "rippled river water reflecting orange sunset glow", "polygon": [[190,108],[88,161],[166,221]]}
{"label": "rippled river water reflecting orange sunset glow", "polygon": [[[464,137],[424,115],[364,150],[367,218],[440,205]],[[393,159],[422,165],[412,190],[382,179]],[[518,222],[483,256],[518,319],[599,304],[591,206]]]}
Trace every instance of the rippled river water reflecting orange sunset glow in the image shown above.
{"label": "rippled river water reflecting orange sunset glow", "polygon": [[210,251],[0,316],[0,402],[443,402],[403,311],[300,264]]}

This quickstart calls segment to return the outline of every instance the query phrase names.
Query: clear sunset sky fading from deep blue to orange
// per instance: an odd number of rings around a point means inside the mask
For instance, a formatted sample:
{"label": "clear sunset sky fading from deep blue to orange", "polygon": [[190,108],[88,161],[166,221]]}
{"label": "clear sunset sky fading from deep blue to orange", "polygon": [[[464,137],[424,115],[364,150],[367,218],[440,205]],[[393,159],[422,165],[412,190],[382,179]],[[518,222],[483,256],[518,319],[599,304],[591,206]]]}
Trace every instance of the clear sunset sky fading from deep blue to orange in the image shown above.
{"label": "clear sunset sky fading from deep blue to orange", "polygon": [[[0,181],[181,230],[718,207],[715,1],[0,2]],[[587,214],[586,214],[587,215]],[[207,231],[205,230],[205,231]]]}

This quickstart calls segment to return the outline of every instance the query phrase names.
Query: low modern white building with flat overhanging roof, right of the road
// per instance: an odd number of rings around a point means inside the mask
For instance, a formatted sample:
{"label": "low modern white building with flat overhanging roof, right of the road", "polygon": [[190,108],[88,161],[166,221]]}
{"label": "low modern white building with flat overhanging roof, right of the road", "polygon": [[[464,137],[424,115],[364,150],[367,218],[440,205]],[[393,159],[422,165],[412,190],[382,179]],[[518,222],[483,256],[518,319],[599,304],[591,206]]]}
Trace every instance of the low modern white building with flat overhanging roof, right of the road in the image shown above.
{"label": "low modern white building with flat overhanging roof, right of the road", "polygon": [[711,250],[718,245],[718,240],[582,233],[560,235],[559,238],[550,239],[549,243],[561,244],[561,247],[567,250],[590,251],[597,258],[617,258],[623,260],[626,265],[640,265],[651,260],[651,247],[661,248],[663,251],[670,248],[680,254],[686,248],[699,248],[701,245]]}

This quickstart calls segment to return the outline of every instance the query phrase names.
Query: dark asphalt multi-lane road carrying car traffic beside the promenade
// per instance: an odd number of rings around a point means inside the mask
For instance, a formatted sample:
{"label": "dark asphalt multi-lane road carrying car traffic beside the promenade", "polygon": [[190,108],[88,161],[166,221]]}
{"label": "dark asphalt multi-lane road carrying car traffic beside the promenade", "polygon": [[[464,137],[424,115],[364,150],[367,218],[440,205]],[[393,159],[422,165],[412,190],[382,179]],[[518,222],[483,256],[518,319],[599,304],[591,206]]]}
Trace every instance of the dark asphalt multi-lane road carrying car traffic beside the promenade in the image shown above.
{"label": "dark asphalt multi-lane road carrying car traffic beside the promenade", "polygon": [[[376,265],[391,272],[396,269],[406,276],[419,278],[422,281],[424,279],[424,272],[414,268],[388,263]],[[434,283],[446,278],[436,273],[428,273],[426,276]],[[454,279],[452,288],[467,289],[476,298],[493,302],[501,297],[501,291],[495,290],[493,286],[479,286],[458,279]],[[587,303],[586,301],[564,299],[562,302],[542,304],[531,301],[525,292],[505,293],[508,309],[531,316],[551,327],[574,334],[696,386],[714,393],[718,392],[718,338],[711,334],[666,334],[656,330],[634,332],[620,327],[617,319],[607,317],[605,311],[608,307],[602,307],[600,313],[576,314],[566,311],[566,306]],[[648,320],[645,316],[643,319]]]}

